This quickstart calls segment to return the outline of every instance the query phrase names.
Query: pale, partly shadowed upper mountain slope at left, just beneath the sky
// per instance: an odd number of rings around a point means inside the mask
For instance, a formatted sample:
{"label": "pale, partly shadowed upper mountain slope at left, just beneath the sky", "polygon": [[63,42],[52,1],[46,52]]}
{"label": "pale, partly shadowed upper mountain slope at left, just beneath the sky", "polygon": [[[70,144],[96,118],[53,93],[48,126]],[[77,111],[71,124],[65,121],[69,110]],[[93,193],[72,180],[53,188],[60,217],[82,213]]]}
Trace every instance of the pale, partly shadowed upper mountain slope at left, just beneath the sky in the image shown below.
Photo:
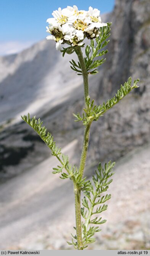
{"label": "pale, partly shadowed upper mountain slope at left, just beneath the sky", "polygon": [[46,39],[16,55],[7,67],[10,73],[0,84],[0,121],[16,117],[19,121],[21,114],[28,110],[35,114],[46,103],[50,108],[57,104],[56,97],[62,101],[71,89],[79,86],[81,77],[66,73],[66,59],[55,50],[55,43]]}

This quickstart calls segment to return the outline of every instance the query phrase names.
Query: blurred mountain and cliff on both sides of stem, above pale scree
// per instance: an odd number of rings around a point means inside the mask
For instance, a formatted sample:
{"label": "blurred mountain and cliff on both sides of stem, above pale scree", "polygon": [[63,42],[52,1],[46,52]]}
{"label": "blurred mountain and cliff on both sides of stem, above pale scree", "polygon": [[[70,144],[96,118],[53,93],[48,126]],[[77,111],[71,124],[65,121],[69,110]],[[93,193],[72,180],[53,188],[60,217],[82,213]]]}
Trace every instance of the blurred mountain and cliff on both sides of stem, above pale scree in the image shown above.
{"label": "blurred mountain and cliff on both sides of stem, above pale scree", "polygon": [[[87,162],[90,167],[98,161],[118,159],[149,140],[149,17],[150,3],[145,0],[117,0],[113,13],[104,17],[113,23],[109,53],[99,74],[90,77],[91,98],[102,103],[129,76],[140,78],[140,88],[93,123]],[[62,58],[55,45],[45,40],[23,53],[1,57],[1,177],[24,171],[49,154],[20,120],[20,114],[28,111],[44,120],[58,144],[65,145],[78,136],[79,160],[83,126],[74,123],[72,113],[82,113],[83,89],[81,77],[69,69],[71,57]]]}

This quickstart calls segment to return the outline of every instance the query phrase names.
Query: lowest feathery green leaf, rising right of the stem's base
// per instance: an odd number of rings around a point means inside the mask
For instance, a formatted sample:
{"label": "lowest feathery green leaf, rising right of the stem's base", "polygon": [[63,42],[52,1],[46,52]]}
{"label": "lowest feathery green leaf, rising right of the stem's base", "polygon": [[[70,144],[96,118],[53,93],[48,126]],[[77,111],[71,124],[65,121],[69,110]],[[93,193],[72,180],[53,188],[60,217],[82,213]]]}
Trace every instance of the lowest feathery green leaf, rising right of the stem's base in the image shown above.
{"label": "lowest feathery green leaf, rising right of the stem's base", "polygon": [[[90,109],[91,105],[94,106],[94,102],[90,103],[89,98],[86,100],[87,108]],[[107,209],[107,205],[103,204],[107,200],[111,198],[111,195],[101,195],[104,191],[108,189],[108,185],[111,183],[112,179],[109,178],[114,174],[113,167],[115,162],[109,161],[103,167],[101,163],[98,164],[98,170],[95,171],[95,176],[93,176],[93,181],[95,184],[95,188],[91,185],[90,191],[84,191],[84,198],[82,199],[81,214],[85,219],[85,223],[82,222],[82,238],[84,248],[89,243],[93,243],[95,238],[93,237],[96,232],[101,231],[98,226],[93,225],[101,225],[106,222],[102,217],[98,217],[99,213],[102,213]],[[100,205],[95,209],[95,205]],[[85,211],[86,208],[86,211]],[[91,219],[93,215],[94,218]],[[90,225],[90,226],[89,226]]]}

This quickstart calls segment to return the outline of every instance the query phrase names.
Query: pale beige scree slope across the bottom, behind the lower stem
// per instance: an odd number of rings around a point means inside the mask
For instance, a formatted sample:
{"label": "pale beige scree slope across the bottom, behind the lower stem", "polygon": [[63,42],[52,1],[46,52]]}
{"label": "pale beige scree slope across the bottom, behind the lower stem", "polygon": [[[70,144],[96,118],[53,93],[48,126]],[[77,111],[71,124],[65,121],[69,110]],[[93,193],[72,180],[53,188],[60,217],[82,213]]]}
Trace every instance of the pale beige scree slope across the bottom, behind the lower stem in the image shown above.
{"label": "pale beige scree slope across the bottom, behind the lower stem", "polygon": [[[70,158],[76,143],[63,149]],[[149,152],[150,145],[118,162],[108,191],[112,198],[102,214],[108,221],[89,249],[148,248]],[[66,241],[75,225],[73,183],[50,172],[56,164],[55,158],[48,158],[30,175],[23,173],[0,186],[1,249],[71,249]]]}

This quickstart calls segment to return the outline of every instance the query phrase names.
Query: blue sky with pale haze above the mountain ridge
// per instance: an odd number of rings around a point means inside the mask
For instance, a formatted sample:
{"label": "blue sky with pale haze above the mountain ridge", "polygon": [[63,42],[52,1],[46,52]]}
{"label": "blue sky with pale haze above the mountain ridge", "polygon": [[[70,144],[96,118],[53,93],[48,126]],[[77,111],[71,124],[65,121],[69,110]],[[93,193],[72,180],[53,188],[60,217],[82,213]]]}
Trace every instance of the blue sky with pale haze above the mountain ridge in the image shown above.
{"label": "blue sky with pale haze above the mountain ridge", "polygon": [[113,10],[115,0],[0,0],[0,55],[15,53],[44,39],[46,20],[53,10],[77,5],[80,10],[89,6],[101,13]]}

